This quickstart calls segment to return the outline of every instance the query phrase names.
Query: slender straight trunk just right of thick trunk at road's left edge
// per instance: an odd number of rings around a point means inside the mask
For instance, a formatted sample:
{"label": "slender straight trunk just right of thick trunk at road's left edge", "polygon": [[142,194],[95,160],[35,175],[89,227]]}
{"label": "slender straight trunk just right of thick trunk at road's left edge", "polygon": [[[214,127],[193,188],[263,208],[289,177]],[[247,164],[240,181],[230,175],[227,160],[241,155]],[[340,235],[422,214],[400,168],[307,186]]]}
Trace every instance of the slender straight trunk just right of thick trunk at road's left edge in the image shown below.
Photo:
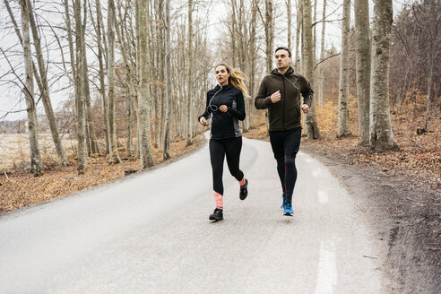
{"label": "slender straight trunk just right of thick trunk at road's left edge", "polygon": [[171,84],[171,59],[170,59],[170,0],[165,0],[165,81],[166,81],[166,116],[164,126],[164,143],[162,144],[162,158],[170,158],[170,132],[171,132],[171,107],[172,107],[172,84]]}

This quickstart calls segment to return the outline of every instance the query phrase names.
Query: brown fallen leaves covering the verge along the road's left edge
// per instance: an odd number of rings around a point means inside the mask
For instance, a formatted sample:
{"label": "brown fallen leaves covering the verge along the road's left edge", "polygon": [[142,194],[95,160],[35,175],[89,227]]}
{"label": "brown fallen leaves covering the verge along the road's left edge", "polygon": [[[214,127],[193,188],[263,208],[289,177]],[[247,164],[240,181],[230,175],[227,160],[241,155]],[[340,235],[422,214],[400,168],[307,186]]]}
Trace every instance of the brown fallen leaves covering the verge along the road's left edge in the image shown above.
{"label": "brown fallen leaves covering the verge along the road's left edge", "polygon": [[[194,151],[204,143],[202,134],[194,138],[194,143],[186,146],[183,140],[172,142],[170,145],[170,160],[177,159],[190,151]],[[88,169],[83,175],[78,175],[76,158],[69,159],[67,167],[46,165],[40,177],[34,177],[28,170],[20,169],[0,175],[0,214],[12,212],[34,203],[42,203],[53,198],[70,195],[75,192],[98,186],[99,184],[125,176],[125,170],[141,169],[140,160],[126,157],[125,151],[120,152],[123,163],[108,164],[108,158],[99,156],[89,158]],[[160,149],[153,148],[154,166],[164,164],[170,160],[162,160]]]}

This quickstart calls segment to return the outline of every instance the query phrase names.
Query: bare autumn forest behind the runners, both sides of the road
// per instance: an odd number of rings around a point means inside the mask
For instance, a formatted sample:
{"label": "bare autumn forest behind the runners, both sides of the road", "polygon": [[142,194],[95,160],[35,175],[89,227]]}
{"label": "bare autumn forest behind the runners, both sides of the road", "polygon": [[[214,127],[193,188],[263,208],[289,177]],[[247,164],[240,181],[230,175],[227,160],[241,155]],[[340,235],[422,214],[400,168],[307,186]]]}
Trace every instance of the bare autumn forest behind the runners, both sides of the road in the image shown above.
{"label": "bare autumn forest behind the runners, both sides of the road", "polygon": [[[395,151],[380,161],[409,149],[409,157],[429,154],[428,162],[409,164],[439,167],[439,0],[408,1],[399,11],[392,0],[1,5],[2,177],[31,187],[30,175],[96,175],[30,198],[69,194],[195,149],[206,131],[196,117],[220,62],[246,73],[241,126],[264,137],[265,114],[254,96],[278,46],[291,48],[293,68],[315,91],[305,141],[319,149],[349,143],[368,150],[369,160],[375,151]],[[17,113],[22,117],[10,118]],[[22,199],[29,193],[15,191],[4,210],[28,203]]]}

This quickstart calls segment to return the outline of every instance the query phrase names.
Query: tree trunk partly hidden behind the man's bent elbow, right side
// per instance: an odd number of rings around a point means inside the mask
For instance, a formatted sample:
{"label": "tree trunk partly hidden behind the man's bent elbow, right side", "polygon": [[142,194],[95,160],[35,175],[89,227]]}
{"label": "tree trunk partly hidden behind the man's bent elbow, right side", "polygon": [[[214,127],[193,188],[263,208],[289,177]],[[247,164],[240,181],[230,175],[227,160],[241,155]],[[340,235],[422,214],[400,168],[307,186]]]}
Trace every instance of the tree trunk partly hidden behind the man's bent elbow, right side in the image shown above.
{"label": "tree trunk partly hidden behind the man's bent elbow, right side", "polygon": [[[314,86],[314,51],[312,46],[312,20],[311,20],[311,0],[303,0],[303,43],[302,50],[305,52],[305,56],[302,56],[305,60],[305,77],[307,81]],[[311,108],[307,114],[307,139],[320,139],[321,134],[318,129],[317,117],[316,117],[316,101],[313,100]]]}

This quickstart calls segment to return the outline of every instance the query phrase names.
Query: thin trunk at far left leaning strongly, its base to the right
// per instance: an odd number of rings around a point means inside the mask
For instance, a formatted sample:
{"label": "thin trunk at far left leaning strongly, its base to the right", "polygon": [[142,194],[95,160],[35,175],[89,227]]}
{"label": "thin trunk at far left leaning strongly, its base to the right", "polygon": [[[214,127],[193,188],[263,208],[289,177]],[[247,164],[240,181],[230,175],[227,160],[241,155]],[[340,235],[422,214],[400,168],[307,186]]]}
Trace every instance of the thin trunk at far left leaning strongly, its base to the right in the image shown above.
{"label": "thin trunk at far left leaning strongly, its base to the right", "polygon": [[41,50],[41,42],[39,39],[39,31],[37,30],[37,24],[35,22],[34,13],[32,9],[32,4],[30,0],[27,0],[28,13],[30,20],[30,29],[32,30],[32,37],[34,40],[35,54],[37,56],[37,62],[39,65],[39,76],[41,77],[41,99],[43,101],[43,107],[45,108],[46,117],[48,117],[49,129],[52,134],[52,140],[56,147],[56,154],[61,160],[61,165],[67,165],[67,158],[65,157],[65,149],[63,148],[63,143],[61,142],[61,137],[58,132],[58,127],[56,125],[56,117],[54,115],[54,108],[52,108],[52,102],[49,96],[49,85],[48,85],[48,74],[46,73],[45,62],[43,60],[43,53]]}

